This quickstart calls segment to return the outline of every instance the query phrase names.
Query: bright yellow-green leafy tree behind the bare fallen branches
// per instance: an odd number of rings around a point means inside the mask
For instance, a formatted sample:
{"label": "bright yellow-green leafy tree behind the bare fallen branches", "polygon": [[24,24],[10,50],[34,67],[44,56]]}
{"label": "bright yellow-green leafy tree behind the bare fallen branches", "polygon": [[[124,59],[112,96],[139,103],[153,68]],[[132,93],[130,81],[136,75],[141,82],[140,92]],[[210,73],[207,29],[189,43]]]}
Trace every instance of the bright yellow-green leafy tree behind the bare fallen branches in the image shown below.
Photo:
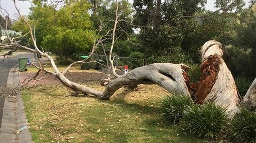
{"label": "bright yellow-green leafy tree behind the bare fallen branches", "polygon": [[66,61],[74,51],[88,53],[95,37],[87,12],[90,6],[86,1],[79,1],[70,2],[58,11],[52,6],[36,7],[36,31],[43,33],[37,38],[38,45],[65,56]]}

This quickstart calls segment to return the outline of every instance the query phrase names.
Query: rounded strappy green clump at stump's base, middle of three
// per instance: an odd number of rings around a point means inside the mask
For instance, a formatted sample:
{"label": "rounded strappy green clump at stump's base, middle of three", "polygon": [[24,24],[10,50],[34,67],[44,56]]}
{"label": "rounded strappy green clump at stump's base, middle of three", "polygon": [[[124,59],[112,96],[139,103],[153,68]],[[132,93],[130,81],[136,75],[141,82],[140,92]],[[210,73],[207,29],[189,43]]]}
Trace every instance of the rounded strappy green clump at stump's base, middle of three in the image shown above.
{"label": "rounded strappy green clump at stump's base, middle of three", "polygon": [[227,129],[228,115],[221,106],[208,102],[184,111],[184,127],[191,134],[206,139],[220,139]]}

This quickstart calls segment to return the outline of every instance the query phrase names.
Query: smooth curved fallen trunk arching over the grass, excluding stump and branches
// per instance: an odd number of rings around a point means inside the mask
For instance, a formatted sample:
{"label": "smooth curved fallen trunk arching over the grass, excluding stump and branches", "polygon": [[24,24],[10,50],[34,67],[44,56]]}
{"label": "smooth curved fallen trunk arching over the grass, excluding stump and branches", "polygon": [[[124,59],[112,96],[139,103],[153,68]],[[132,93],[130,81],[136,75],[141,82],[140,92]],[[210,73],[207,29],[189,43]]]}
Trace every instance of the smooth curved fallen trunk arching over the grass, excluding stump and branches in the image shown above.
{"label": "smooth curved fallen trunk arching over the grass, excluding stump and branches", "polygon": [[[54,64],[53,61],[51,61]],[[98,91],[78,83],[68,80],[58,69],[53,68],[57,72],[57,77],[63,85],[73,91],[79,91],[85,94],[95,95],[99,99],[108,99],[115,91],[126,85],[154,84],[164,87],[173,94],[190,96],[186,79],[183,77],[185,69],[188,66],[184,64],[155,63],[136,68],[123,74],[120,77],[108,83],[104,91]],[[184,70],[183,70],[184,69]],[[185,76],[185,75],[184,75]]]}

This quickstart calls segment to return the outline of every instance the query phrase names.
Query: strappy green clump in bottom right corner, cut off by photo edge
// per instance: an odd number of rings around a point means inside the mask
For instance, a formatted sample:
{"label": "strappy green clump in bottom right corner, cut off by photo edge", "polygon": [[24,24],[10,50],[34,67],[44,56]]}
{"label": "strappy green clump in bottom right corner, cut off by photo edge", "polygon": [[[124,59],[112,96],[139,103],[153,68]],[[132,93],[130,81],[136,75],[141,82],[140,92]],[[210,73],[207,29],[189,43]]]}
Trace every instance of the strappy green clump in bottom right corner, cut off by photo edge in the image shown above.
{"label": "strappy green clump in bottom right corner, cut off by photo edge", "polygon": [[231,121],[230,138],[233,142],[256,142],[256,114],[242,108]]}

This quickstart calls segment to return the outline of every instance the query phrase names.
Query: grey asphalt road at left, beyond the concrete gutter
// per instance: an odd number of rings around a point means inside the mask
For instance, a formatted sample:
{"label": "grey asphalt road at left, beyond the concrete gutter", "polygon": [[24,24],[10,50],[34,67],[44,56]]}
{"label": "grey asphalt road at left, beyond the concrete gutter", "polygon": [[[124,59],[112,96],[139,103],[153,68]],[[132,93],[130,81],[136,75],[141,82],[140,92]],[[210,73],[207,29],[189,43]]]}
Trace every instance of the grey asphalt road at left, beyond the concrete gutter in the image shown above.
{"label": "grey asphalt road at left, beyond the concrete gutter", "polygon": [[[0,86],[6,85],[10,70],[13,68],[14,65],[18,64],[19,58],[24,58],[24,57],[33,58],[34,54],[22,53],[17,56],[11,57],[10,61],[8,61],[7,58],[5,58],[4,62],[2,62],[3,58],[0,58]],[[4,96],[0,95],[0,128],[2,124],[3,108],[4,108]]]}

